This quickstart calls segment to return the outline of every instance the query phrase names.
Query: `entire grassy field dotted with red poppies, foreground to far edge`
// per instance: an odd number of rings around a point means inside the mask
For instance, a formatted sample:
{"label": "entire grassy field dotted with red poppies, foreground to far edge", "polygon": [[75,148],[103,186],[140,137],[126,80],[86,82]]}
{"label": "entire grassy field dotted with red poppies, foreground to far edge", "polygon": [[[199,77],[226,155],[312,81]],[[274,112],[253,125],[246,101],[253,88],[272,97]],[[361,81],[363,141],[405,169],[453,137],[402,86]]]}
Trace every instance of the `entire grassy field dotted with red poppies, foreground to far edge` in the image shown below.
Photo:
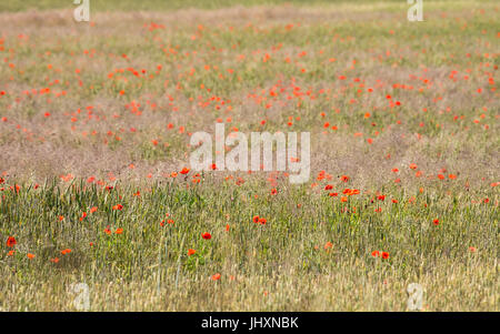
{"label": "entire grassy field dotted with red poppies, foreground to far edge", "polygon": [[[0,310],[499,311],[496,1],[71,2],[0,4]],[[181,173],[216,123],[309,182]]]}

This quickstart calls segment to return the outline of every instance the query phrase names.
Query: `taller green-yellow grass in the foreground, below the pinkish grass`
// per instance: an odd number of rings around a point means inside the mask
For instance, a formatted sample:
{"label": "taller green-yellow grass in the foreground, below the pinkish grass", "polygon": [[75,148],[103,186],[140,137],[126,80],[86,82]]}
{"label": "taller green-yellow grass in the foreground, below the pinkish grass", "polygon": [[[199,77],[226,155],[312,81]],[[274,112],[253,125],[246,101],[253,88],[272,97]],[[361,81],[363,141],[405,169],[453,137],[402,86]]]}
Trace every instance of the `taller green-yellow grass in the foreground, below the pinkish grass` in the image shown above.
{"label": "taller green-yellow grass in the foreground, below the pinkish grass", "polygon": [[[258,180],[234,188],[231,181],[203,179],[200,185],[187,189],[190,179],[152,184],[143,188],[140,196],[134,196],[139,188],[131,184],[117,184],[108,191],[84,182],[60,188],[56,181],[37,190],[4,191],[1,233],[16,235],[18,245],[13,256],[2,254],[0,259],[4,264],[0,286],[6,291],[0,306],[11,311],[71,310],[70,295],[53,290],[77,280],[89,285],[94,311],[339,310],[347,302],[337,303],[337,294],[349,284],[373,289],[371,293],[384,301],[378,304],[363,295],[360,300],[347,297],[350,310],[404,310],[402,282],[427,283],[432,292],[426,307],[434,311],[496,307],[496,301],[488,298],[497,293],[498,212],[486,203],[471,204],[471,196],[443,195],[438,190],[427,194],[387,190],[390,195],[384,201],[362,193],[343,203],[324,191],[311,195],[307,186],[271,195]],[[411,203],[410,196],[414,196]],[[123,209],[113,210],[117,204]],[[91,208],[98,209],[90,213]],[[381,212],[376,212],[377,208]],[[88,215],[80,221],[83,212]],[[253,223],[254,215],[267,217],[267,223]],[[173,223],[161,226],[167,219]],[[433,224],[434,219],[439,225]],[[104,232],[107,226],[111,234]],[[117,229],[123,233],[116,234]],[[212,239],[202,239],[204,232]],[[331,249],[324,249],[328,242]],[[471,252],[470,246],[477,251]],[[71,253],[61,255],[66,249]],[[188,255],[189,249],[196,254]],[[377,250],[388,252],[389,259],[373,257]],[[29,260],[28,252],[36,257]],[[49,261],[54,257],[60,261]],[[326,281],[346,265],[354,265],[351,270],[362,275],[338,277],[331,286],[310,286],[306,295],[299,293],[290,303],[287,301],[298,292],[292,286],[278,287],[290,280]],[[441,276],[457,271],[467,274],[470,283]],[[210,283],[216,273],[222,274],[220,282]],[[259,286],[252,286],[256,277]],[[6,282],[21,286],[30,282],[27,289],[34,301],[20,300]],[[113,289],[110,305],[110,296],[102,295],[99,286],[113,282],[120,286]],[[151,295],[144,296],[142,305],[128,305],[121,294],[127,295],[138,282],[150,285],[144,289],[150,289]],[[224,304],[210,306],[226,289],[241,290],[226,295]],[[173,291],[183,297],[157,304],[163,293]],[[244,291],[250,296],[243,298]],[[270,293],[268,297],[262,295],[264,291]],[[452,293],[468,297],[446,303]],[[200,301],[199,295],[207,295],[208,301]],[[244,304],[249,297],[256,298],[251,305]]]}

